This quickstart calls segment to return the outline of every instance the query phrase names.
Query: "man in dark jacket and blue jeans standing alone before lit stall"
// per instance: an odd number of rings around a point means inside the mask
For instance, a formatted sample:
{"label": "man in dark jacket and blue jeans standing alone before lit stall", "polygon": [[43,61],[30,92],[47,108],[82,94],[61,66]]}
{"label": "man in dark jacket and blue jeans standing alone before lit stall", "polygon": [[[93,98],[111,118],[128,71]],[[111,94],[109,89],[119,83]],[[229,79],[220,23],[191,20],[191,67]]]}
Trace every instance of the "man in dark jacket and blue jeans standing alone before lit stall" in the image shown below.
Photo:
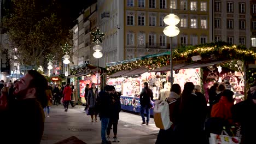
{"label": "man in dark jacket and blue jeans standing alone before lit stall", "polygon": [[149,109],[151,109],[152,107],[150,99],[153,100],[153,92],[151,89],[148,88],[148,82],[144,82],[144,88],[142,89],[142,92],[140,94],[142,124],[146,124],[144,110],[146,110],[147,125],[149,122]]}

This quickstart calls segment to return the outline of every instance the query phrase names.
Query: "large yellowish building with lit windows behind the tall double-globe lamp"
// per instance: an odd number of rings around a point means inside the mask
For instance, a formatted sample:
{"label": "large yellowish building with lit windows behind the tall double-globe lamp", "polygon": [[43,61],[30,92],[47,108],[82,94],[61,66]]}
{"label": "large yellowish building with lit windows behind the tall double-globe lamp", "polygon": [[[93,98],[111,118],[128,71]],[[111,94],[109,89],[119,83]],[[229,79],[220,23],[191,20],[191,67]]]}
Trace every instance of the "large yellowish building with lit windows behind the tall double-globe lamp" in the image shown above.
{"label": "large yellowish building with lit windows behind the tall double-globe lamp", "polygon": [[162,31],[166,27],[164,17],[170,13],[181,19],[181,32],[173,38],[173,47],[208,43],[212,39],[210,2],[98,1],[98,25],[106,33],[103,63],[169,51],[170,38]]}

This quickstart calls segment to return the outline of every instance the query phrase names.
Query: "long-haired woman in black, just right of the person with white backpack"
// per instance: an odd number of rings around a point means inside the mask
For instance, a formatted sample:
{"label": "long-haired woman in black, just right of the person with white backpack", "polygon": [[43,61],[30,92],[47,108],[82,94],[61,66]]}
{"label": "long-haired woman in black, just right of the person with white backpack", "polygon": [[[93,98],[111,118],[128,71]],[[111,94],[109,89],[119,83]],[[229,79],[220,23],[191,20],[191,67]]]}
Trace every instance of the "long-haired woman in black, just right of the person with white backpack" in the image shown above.
{"label": "long-haired woman in black, just right of the person with white backpack", "polygon": [[206,118],[206,100],[195,94],[195,86],[192,82],[184,85],[181,102],[176,118],[176,128],[179,143],[205,143],[206,136],[203,125]]}

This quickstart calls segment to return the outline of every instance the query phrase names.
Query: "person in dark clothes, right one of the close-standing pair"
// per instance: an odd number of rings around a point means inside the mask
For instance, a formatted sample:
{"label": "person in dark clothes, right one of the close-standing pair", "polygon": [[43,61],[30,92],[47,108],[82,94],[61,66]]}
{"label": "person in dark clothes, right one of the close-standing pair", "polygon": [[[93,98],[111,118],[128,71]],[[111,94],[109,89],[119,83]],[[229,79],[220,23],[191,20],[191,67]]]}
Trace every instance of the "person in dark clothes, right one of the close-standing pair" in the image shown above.
{"label": "person in dark clothes, right one of the close-standing pair", "polygon": [[119,112],[121,111],[121,103],[120,103],[120,96],[115,91],[114,86],[110,86],[110,90],[112,90],[112,93],[110,93],[111,96],[111,115],[109,118],[108,128],[107,128],[107,140],[110,141],[110,130],[112,129],[113,125],[113,142],[119,142],[117,139],[117,131],[118,131],[118,120],[119,120]]}

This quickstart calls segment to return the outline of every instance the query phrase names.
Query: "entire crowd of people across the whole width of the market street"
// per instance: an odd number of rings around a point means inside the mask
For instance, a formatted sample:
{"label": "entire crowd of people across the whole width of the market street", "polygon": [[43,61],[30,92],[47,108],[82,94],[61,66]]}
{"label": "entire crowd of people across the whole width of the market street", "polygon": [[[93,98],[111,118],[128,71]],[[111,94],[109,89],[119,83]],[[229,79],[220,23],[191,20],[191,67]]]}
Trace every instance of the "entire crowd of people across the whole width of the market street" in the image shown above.
{"label": "entire crowd of people across the whole width of the market street", "polygon": [[[90,85],[86,85],[85,110],[88,110],[91,122],[98,122],[97,116],[100,117],[102,143],[119,142],[117,131],[121,111],[120,93],[110,85],[100,92],[94,83],[89,87]],[[0,81],[0,91],[0,143],[40,143],[44,119],[50,117],[50,106],[62,102],[65,111],[68,110],[69,103],[74,106],[71,103],[73,83],[67,83],[63,88],[58,85],[53,88],[36,70],[28,71],[13,83]],[[170,121],[173,124],[167,130],[160,129],[155,143],[208,143],[210,133],[222,134],[223,128],[228,134],[241,137],[241,143],[256,143],[256,82],[249,88],[248,98],[235,105],[234,92],[224,84],[214,83],[208,92],[210,109],[207,109],[201,87],[192,82],[185,83],[183,91],[178,84],[173,84],[168,94],[168,97],[163,94],[162,100],[170,103]],[[139,96],[142,124],[148,125],[153,93],[147,82]],[[110,139],[112,129],[113,139]],[[15,139],[11,139],[13,135]]]}

